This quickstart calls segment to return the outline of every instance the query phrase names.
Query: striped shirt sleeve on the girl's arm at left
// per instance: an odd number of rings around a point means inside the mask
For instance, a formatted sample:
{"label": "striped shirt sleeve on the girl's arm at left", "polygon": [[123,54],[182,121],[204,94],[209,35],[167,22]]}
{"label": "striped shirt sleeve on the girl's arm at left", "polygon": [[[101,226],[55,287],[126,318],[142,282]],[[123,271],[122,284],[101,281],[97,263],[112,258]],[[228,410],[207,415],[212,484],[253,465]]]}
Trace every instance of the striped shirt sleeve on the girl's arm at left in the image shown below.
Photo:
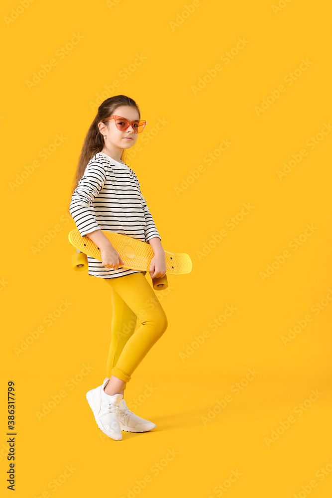
{"label": "striped shirt sleeve on the girl's arm at left", "polygon": [[74,190],[69,211],[82,237],[100,229],[91,204],[104,187],[105,181],[106,171],[103,164],[94,161],[87,165]]}

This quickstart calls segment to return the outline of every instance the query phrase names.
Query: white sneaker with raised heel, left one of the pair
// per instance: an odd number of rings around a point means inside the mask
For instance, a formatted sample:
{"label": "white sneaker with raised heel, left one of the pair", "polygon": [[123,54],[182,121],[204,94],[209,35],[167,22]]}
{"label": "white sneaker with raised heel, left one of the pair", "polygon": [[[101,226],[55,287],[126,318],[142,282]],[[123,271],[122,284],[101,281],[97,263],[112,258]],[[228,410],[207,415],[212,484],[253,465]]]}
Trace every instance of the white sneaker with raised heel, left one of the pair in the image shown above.
{"label": "white sneaker with raised heel, left one of the pair", "polygon": [[120,441],[122,439],[120,424],[118,421],[119,403],[122,400],[122,394],[110,396],[104,391],[104,387],[109,381],[106,377],[102,385],[87,392],[86,397],[90,408],[95,415],[98,427],[107,436]]}

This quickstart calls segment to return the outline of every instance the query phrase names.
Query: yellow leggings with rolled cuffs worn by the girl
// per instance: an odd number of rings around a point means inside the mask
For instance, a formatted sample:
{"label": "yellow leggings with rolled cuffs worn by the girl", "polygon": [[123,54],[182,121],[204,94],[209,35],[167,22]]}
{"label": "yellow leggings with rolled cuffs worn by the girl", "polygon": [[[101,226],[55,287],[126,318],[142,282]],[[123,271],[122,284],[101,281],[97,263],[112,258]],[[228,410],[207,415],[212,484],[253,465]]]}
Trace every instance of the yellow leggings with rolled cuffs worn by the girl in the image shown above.
{"label": "yellow leggings with rolled cuffs worn by the girl", "polygon": [[[111,286],[112,302],[111,344],[106,375],[128,382],[167,329],[167,317],[144,273],[103,280]],[[139,327],[135,331],[137,318]]]}

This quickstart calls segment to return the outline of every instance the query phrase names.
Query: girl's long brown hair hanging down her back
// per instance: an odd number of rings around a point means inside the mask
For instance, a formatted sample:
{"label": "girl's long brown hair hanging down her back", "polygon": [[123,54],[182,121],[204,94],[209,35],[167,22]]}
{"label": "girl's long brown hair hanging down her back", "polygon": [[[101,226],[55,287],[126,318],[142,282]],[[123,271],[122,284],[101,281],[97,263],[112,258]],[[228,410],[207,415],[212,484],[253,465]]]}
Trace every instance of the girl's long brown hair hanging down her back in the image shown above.
{"label": "girl's long brown hair hanging down her back", "polygon": [[[73,195],[78,182],[84,175],[85,168],[90,159],[92,159],[93,156],[98,152],[101,152],[104,147],[104,139],[102,133],[99,130],[98,123],[106,118],[109,118],[114,113],[115,109],[119,106],[135,107],[138,111],[140,119],[141,114],[138,105],[133,99],[127,97],[126,95],[115,95],[114,97],[110,97],[109,99],[106,99],[104,100],[104,102],[102,102],[102,104],[98,108],[98,113],[94,121],[91,123],[90,128],[88,129],[87,134],[84,138],[70,197]],[[123,149],[120,158],[123,162],[125,162],[123,160],[124,156],[126,155],[125,151],[126,149]]]}

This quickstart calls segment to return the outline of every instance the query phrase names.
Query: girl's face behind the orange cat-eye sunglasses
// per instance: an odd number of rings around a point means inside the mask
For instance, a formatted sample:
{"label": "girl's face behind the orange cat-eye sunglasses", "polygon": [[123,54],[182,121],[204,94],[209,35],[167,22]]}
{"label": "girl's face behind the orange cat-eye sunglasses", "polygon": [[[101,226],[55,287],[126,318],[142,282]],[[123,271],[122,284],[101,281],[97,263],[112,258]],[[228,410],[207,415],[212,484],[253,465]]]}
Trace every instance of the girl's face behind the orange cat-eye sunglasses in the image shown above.
{"label": "girl's face behind the orange cat-eye sunglasses", "polygon": [[[113,111],[113,115],[121,116],[121,118],[125,118],[130,122],[140,119],[137,109],[131,106],[119,106]],[[99,129],[103,135],[106,135],[107,138],[104,141],[109,148],[128,149],[136,143],[138,138],[138,133],[134,132],[131,124],[127,129],[121,131],[117,129],[114,119],[105,124],[100,123]]]}

